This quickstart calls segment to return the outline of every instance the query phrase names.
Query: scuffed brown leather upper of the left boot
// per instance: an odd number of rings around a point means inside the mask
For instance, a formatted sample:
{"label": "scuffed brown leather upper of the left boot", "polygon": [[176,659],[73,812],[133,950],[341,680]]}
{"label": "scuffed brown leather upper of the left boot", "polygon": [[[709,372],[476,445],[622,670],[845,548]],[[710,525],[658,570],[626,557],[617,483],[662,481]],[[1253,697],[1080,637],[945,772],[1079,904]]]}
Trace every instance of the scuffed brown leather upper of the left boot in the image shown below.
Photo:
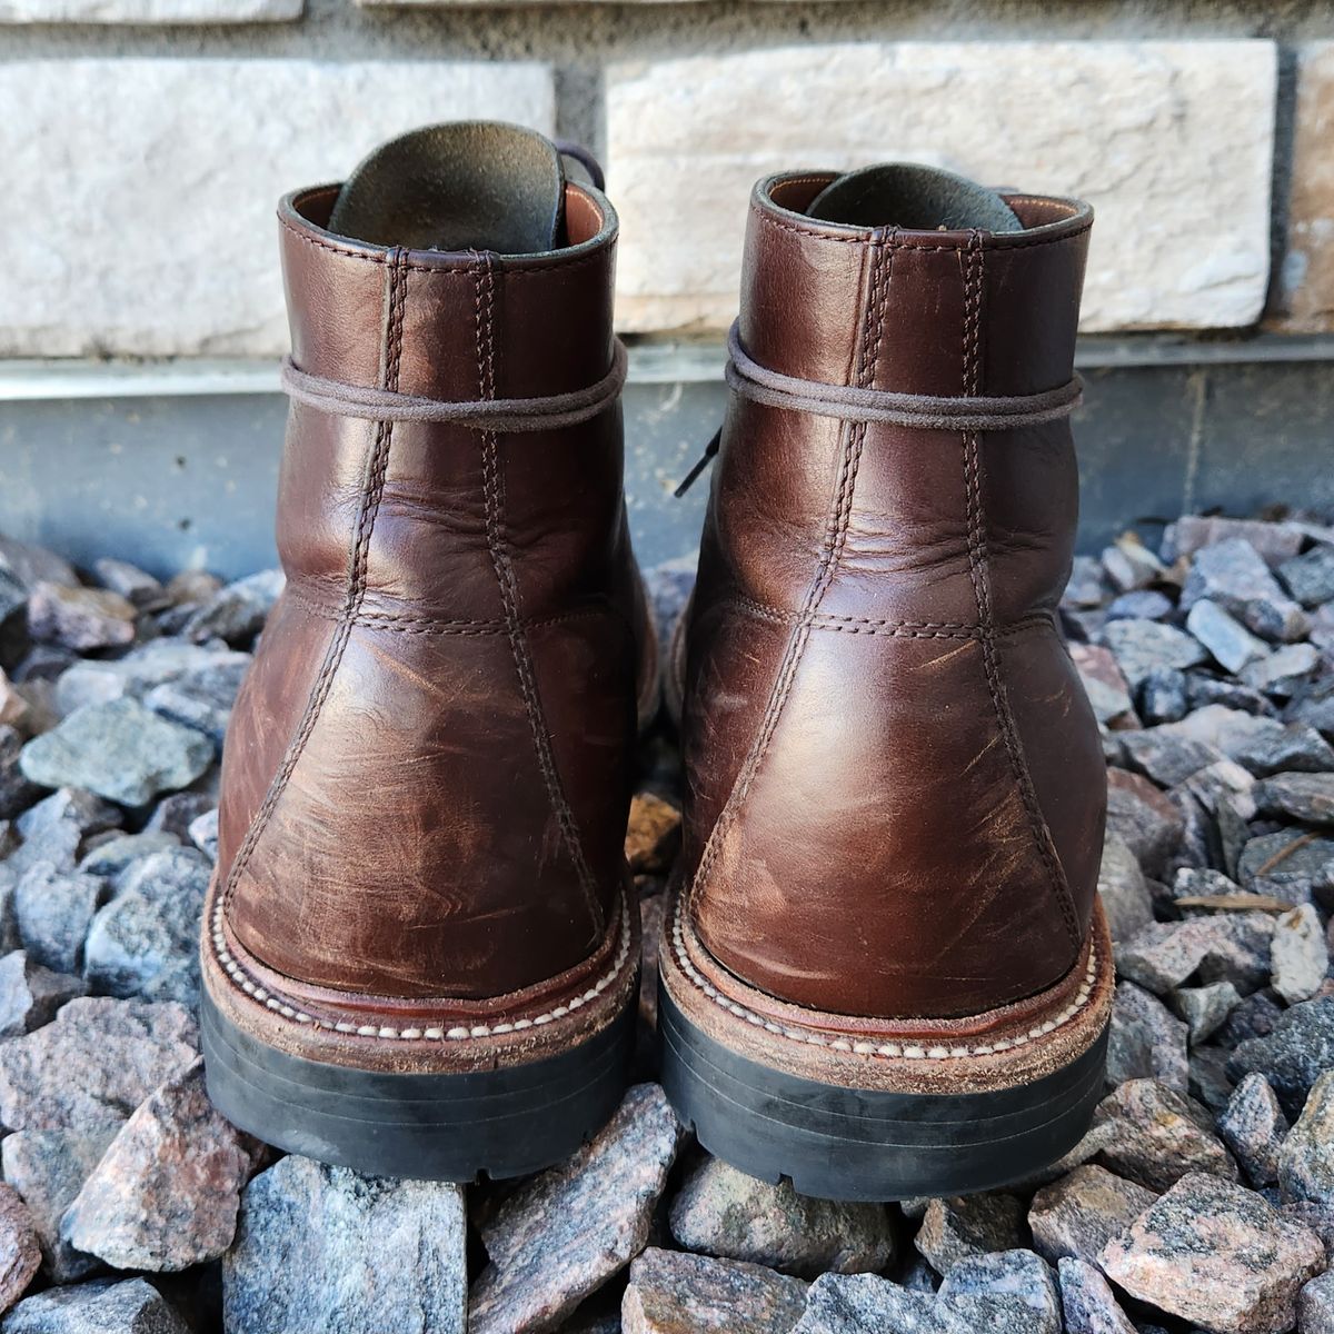
{"label": "scuffed brown leather upper of the left boot", "polygon": [[[280,209],[292,359],[434,399],[576,391],[611,364],[615,215],[506,257],[359,244],[338,187]],[[626,880],[644,606],[620,410],[516,435],[293,404],[287,590],[232,716],[219,875],[263,964],[383,996],[576,967]]]}

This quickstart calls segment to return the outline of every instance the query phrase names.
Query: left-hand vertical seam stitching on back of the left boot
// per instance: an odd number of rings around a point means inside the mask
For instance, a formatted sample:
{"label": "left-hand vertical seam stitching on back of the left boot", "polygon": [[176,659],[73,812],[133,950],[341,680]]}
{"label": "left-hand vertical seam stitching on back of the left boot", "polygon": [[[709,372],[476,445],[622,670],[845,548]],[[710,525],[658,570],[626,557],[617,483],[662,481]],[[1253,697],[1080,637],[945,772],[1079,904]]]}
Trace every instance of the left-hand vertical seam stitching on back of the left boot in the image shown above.
{"label": "left-hand vertical seam stitching on back of the left boot", "polygon": [[[382,382],[380,388],[384,390],[398,390],[399,384],[399,367],[403,359],[403,308],[407,304],[406,259],[407,251],[399,247],[394,248],[388,259],[388,295],[386,301],[387,309],[384,323],[384,368],[379,376]],[[356,527],[352,531],[352,540],[348,548],[347,588],[344,591],[339,620],[335,626],[334,635],[329,639],[328,648],[324,652],[324,660],[320,664],[319,675],[311,686],[309,695],[307,695],[305,708],[301,712],[301,720],[297,724],[291,742],[288,742],[283,763],[273,775],[273,779],[268,786],[268,791],[264,794],[264,800],[260,804],[259,811],[255,812],[255,818],[251,820],[249,828],[245,831],[244,842],[240,848],[237,848],[236,856],[232,858],[232,864],[227,874],[227,884],[223,890],[221,906],[224,910],[231,904],[236,892],[236,886],[240,882],[241,875],[245,872],[245,867],[249,864],[249,859],[253,856],[255,848],[259,846],[259,840],[264,836],[264,831],[268,828],[268,823],[273,818],[273,811],[277,808],[277,803],[281,799],[283,792],[287,790],[292,772],[296,770],[296,764],[305,751],[305,746],[311,739],[311,734],[315,731],[315,724],[319,720],[324,703],[328,699],[329,690],[334,686],[334,678],[338,674],[339,664],[343,662],[343,652],[347,648],[348,639],[352,635],[352,626],[356,623],[358,612],[360,611],[362,602],[366,596],[371,534],[379,515],[380,498],[384,494],[384,480],[388,474],[390,446],[392,444],[392,440],[394,423],[386,420],[378,422],[375,424],[375,438],[371,444],[371,450],[367,454],[366,468],[362,478],[362,494],[360,503],[358,506]]]}

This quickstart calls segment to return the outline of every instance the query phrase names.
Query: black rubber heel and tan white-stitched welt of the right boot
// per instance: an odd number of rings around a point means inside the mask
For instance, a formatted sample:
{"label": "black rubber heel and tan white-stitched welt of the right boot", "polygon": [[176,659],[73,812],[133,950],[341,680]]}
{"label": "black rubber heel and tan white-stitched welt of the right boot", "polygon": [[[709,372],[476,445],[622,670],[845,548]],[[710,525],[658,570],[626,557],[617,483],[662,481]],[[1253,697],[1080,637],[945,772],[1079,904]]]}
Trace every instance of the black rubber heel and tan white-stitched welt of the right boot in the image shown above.
{"label": "black rubber heel and tan white-stitched welt of the right boot", "polygon": [[[966,1195],[1030,1178],[1103,1095],[1115,975],[1102,912],[1057,987],[952,1035],[775,1009],[706,962],[678,900],[659,952],[662,1082],[734,1167],[824,1199]],[[964,1031],[967,1030],[967,1031]],[[971,1037],[968,1035],[971,1033]]]}

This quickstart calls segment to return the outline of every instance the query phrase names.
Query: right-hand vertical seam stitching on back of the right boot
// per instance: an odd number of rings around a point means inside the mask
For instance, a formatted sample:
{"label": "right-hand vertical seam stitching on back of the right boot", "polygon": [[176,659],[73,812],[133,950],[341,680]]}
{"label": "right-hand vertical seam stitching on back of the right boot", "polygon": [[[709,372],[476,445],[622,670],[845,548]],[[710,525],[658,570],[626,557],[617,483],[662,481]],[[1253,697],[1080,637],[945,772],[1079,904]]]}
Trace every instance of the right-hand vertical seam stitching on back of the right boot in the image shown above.
{"label": "right-hand vertical seam stitching on back of the right boot", "polygon": [[[982,299],[983,299],[983,251],[982,233],[972,231],[963,263],[963,392],[978,395],[982,391]],[[1078,947],[1082,943],[1079,924],[1070,896],[1070,886],[1066,880],[1051,838],[1051,830],[1038,803],[1038,794],[1033,786],[1033,775],[1019,742],[1018,728],[1010,702],[1006,695],[1005,682],[1000,678],[1000,663],[996,655],[996,631],[991,608],[991,578],[990,578],[990,551],[986,536],[986,518],[983,514],[982,483],[980,483],[980,439],[976,432],[967,432],[963,436],[963,482],[967,496],[968,522],[968,578],[972,582],[972,594],[978,604],[979,640],[982,643],[982,666],[987,680],[987,690],[991,695],[991,707],[995,711],[996,726],[1005,742],[1006,754],[1010,758],[1010,768],[1014,774],[1015,786],[1023,802],[1025,812],[1029,818],[1029,828],[1042,864],[1047,872],[1051,890],[1061,906],[1061,915],[1065,920],[1070,939]]]}

